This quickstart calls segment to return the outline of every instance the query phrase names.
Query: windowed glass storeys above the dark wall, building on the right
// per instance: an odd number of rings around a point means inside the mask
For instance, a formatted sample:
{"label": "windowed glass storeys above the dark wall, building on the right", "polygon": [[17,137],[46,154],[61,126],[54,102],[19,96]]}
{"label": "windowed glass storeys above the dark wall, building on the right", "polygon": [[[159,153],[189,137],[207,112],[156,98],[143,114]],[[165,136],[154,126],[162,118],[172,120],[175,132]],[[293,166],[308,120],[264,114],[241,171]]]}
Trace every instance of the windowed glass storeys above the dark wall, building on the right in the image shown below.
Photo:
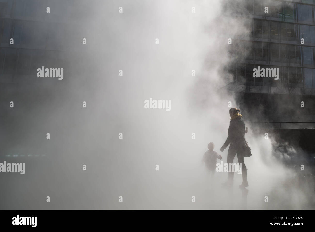
{"label": "windowed glass storeys above the dark wall, building on the right", "polygon": [[[315,1],[230,3],[237,17],[246,18],[249,32],[237,39],[243,62],[232,68],[241,91],[315,95]],[[253,69],[259,66],[279,68],[279,80],[253,77]]]}

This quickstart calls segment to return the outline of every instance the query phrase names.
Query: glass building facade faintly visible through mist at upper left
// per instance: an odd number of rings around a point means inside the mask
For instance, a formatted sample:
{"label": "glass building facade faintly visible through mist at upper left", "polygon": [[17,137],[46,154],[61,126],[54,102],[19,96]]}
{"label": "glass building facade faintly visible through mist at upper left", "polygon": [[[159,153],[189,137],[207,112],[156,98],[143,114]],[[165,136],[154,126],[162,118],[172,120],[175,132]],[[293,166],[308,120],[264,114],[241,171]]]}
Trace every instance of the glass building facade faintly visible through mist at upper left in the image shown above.
{"label": "glass building facade faintly visible through mist at upper left", "polygon": [[37,68],[42,66],[64,64],[62,51],[69,39],[67,14],[56,10],[57,4],[49,0],[0,0],[0,85],[46,81],[30,77],[36,77]]}

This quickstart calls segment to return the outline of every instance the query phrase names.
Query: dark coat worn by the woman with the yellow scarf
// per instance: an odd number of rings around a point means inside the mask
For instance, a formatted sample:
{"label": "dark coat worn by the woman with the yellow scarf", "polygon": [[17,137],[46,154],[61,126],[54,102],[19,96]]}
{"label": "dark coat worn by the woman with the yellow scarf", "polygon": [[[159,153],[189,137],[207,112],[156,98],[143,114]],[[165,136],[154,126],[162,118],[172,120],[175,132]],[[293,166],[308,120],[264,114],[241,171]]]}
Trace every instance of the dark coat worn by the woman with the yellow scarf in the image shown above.
{"label": "dark coat worn by the woman with the yellow scarf", "polygon": [[229,134],[223,147],[226,148],[230,143],[243,146],[245,142],[245,123],[242,118],[230,121]]}

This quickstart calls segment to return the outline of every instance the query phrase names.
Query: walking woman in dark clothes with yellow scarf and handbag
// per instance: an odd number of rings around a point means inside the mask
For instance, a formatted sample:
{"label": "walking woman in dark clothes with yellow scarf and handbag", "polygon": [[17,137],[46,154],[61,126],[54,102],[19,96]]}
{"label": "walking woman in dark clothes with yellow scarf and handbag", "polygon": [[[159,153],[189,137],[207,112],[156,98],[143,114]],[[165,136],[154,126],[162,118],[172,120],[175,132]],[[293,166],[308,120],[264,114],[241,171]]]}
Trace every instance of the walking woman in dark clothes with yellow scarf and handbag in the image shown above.
{"label": "walking woman in dark clothes with yellow scarf and handbag", "polygon": [[[240,188],[248,187],[247,182],[247,169],[246,165],[244,164],[244,157],[243,157],[243,151],[246,146],[245,141],[245,133],[247,133],[247,128],[245,131],[245,123],[242,119],[242,115],[239,114],[240,110],[237,108],[231,108],[230,109],[230,126],[229,126],[229,132],[227,139],[223,146],[221,147],[220,151],[223,152],[224,149],[230,144],[229,150],[227,152],[227,163],[231,164],[233,162],[233,159],[235,155],[237,154],[238,163],[242,164],[242,178],[243,183],[239,186]],[[229,171],[229,178],[226,183],[223,185],[225,186],[232,186],[233,185],[233,176],[234,171]]]}

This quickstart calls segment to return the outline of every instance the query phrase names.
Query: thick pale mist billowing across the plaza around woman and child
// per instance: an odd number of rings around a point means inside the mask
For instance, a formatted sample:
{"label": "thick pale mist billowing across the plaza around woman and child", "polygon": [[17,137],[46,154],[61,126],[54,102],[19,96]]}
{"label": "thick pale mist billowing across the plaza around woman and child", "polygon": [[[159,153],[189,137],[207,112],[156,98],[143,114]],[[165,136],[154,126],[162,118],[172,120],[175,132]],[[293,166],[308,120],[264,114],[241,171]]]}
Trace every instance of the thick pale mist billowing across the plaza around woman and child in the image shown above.
{"label": "thick pale mist billowing across the plaza around woman and child", "polygon": [[[65,43],[66,62],[56,67],[64,68],[63,80],[28,86],[28,99],[32,100],[24,102],[24,108],[16,104],[10,116],[18,126],[14,132],[5,127],[11,141],[7,152],[46,155],[15,158],[26,163],[26,170],[24,175],[3,175],[3,197],[7,199],[1,203],[3,209],[314,207],[309,175],[301,177],[300,167],[288,167],[276,159],[272,138],[266,140],[263,128],[251,125],[253,119],[245,115],[246,140],[253,154],[244,158],[248,195],[238,188],[241,175],[234,175],[233,191],[229,192],[221,188],[228,173],[215,173],[211,179],[201,164],[209,142],[226,162],[228,147],[224,152],[220,147],[228,133],[228,103],[242,114],[226,88],[232,80],[226,67],[242,57],[231,56],[227,42],[232,38],[233,45],[234,38],[249,32],[246,19],[235,19],[225,1],[65,4],[55,4],[55,10],[68,20],[66,40],[58,34],[60,43]],[[55,20],[61,19],[56,16]],[[150,98],[170,100],[170,111],[145,109],[145,100]],[[23,97],[15,101],[23,101]],[[50,133],[49,140],[46,133]],[[123,139],[119,139],[120,133]],[[120,196],[123,202],[119,202]]]}

